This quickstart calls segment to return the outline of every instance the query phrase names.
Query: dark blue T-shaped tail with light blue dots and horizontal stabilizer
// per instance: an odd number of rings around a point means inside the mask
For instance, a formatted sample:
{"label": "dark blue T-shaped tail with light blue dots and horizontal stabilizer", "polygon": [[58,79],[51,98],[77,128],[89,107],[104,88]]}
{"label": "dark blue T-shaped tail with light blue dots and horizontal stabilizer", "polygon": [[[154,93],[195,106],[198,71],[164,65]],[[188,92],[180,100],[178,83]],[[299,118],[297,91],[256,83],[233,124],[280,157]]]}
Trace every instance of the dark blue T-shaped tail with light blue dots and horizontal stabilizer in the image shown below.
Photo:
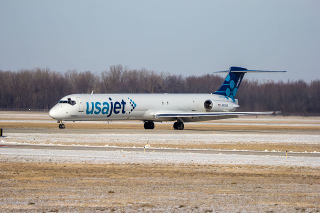
{"label": "dark blue T-shaped tail with light blue dots and horizontal stabilizer", "polygon": [[233,101],[235,95],[240,86],[241,80],[246,72],[286,72],[286,71],[266,71],[266,70],[248,70],[246,68],[231,66],[229,70],[217,71],[217,72],[227,72],[224,82],[218,90],[212,92],[212,94],[220,94],[223,96],[230,97]]}

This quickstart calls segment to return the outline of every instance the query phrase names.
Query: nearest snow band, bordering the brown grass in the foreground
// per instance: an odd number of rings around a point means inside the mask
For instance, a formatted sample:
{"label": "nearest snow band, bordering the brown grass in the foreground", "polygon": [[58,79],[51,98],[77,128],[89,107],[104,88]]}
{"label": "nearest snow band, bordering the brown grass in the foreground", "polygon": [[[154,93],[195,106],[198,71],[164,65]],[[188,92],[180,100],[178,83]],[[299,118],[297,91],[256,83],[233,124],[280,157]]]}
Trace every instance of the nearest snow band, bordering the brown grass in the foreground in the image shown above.
{"label": "nearest snow band, bordering the brown grass in the foreground", "polygon": [[207,154],[182,152],[137,152],[56,149],[1,149],[0,161],[89,162],[89,163],[196,163],[320,166],[320,157]]}

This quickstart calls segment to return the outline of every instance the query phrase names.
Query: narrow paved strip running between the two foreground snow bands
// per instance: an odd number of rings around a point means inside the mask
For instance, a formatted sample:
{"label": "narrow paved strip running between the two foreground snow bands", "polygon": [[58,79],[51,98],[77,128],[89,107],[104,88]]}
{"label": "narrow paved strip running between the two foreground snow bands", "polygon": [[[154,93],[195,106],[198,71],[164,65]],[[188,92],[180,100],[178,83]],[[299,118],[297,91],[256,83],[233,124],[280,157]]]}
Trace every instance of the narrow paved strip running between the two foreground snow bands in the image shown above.
{"label": "narrow paved strip running between the two foreground snow bands", "polygon": [[[207,149],[169,149],[169,148],[129,148],[129,147],[99,147],[99,146],[70,146],[70,145],[42,145],[42,144],[5,144],[0,143],[0,148],[22,149],[55,149],[55,150],[94,150],[94,151],[146,151],[166,153],[202,153],[202,154],[238,154],[238,155],[271,155],[285,156],[285,152],[273,151],[240,151],[240,150],[207,150]],[[288,156],[320,157],[320,153],[287,152]]]}

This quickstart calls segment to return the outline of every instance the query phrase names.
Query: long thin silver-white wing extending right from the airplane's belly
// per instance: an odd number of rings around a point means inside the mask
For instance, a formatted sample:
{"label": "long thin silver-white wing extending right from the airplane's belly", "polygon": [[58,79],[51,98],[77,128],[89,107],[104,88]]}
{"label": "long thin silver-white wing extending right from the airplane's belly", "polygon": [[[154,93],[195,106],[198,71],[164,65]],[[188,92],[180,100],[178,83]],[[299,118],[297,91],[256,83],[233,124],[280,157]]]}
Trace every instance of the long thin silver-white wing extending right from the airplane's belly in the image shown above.
{"label": "long thin silver-white wing extending right from the airplane's belly", "polygon": [[277,114],[280,111],[240,111],[240,112],[156,112],[155,118],[159,117],[202,117],[202,116],[224,116],[236,117],[237,115],[259,115],[259,114]]}

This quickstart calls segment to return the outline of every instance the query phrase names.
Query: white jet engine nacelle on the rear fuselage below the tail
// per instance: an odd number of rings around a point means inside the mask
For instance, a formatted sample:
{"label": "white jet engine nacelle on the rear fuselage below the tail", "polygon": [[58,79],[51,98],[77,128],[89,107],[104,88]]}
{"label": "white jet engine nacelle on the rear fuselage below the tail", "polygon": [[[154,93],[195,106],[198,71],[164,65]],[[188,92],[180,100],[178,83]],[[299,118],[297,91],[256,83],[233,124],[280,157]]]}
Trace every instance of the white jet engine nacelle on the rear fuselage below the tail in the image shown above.
{"label": "white jet engine nacelle on the rear fuselage below the tail", "polygon": [[204,101],[203,107],[205,111],[234,111],[239,105],[237,99],[234,102],[223,101],[223,100],[206,100]]}

